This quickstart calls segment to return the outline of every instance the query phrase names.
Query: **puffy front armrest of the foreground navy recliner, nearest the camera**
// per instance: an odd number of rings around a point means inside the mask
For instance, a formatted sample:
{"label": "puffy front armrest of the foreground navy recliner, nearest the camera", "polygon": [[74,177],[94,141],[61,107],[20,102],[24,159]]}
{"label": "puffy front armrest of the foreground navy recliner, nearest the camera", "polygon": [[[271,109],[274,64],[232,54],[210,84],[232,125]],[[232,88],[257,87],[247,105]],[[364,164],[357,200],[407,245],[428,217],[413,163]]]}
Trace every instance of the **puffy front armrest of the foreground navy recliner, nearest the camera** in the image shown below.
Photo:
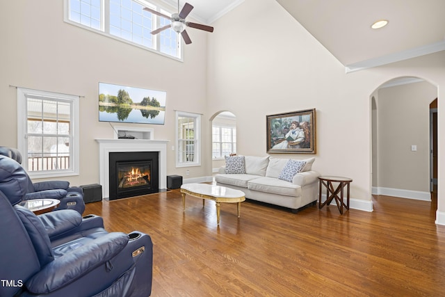
{"label": "puffy front armrest of the foreground navy recliner, nearest the camera", "polygon": [[129,237],[125,233],[108,233],[54,259],[26,281],[26,288],[33,294],[49,294],[56,291],[98,266],[105,265],[127,246],[128,241]]}

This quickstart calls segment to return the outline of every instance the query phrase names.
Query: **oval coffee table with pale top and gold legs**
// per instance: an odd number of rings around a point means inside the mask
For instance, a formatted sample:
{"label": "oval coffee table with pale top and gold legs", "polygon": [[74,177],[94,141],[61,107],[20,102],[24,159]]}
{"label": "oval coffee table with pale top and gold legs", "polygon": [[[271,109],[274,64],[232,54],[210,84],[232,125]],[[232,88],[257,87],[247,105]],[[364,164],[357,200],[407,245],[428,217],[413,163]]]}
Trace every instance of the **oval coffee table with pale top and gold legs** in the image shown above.
{"label": "oval coffee table with pale top and gold legs", "polygon": [[214,184],[183,184],[181,186],[182,209],[186,211],[186,194],[196,198],[202,198],[202,206],[205,200],[216,202],[216,223],[220,224],[220,204],[238,203],[238,218],[240,217],[241,202],[245,200],[243,191],[234,190],[225,186],[216,186]]}

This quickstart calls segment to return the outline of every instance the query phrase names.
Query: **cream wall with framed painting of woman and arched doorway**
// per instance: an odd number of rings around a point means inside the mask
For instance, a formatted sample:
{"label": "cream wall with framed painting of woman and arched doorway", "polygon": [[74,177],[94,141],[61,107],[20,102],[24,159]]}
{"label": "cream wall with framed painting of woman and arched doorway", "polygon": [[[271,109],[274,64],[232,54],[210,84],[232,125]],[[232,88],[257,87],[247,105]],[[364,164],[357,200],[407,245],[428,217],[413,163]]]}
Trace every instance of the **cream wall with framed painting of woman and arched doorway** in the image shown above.
{"label": "cream wall with framed painting of woman and arched doorway", "polygon": [[405,76],[426,79],[439,93],[445,88],[444,53],[345,74],[343,65],[272,0],[245,0],[214,26],[209,113],[236,114],[238,153],[266,155],[266,115],[315,108],[313,168],[351,177],[351,197],[364,205],[371,201],[371,95],[385,81]]}

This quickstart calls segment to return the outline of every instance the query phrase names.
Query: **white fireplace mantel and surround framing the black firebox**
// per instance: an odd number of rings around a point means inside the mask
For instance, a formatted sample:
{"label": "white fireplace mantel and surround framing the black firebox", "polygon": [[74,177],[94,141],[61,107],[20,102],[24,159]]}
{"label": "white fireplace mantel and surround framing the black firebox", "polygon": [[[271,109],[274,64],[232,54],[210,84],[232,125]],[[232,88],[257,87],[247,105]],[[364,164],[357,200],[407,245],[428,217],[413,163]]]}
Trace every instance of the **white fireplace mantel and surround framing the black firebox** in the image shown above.
{"label": "white fireplace mantel and surround framing the black firebox", "polygon": [[167,188],[167,144],[169,141],[147,139],[95,139],[99,143],[99,180],[102,197],[110,197],[110,152],[159,152],[159,190]]}

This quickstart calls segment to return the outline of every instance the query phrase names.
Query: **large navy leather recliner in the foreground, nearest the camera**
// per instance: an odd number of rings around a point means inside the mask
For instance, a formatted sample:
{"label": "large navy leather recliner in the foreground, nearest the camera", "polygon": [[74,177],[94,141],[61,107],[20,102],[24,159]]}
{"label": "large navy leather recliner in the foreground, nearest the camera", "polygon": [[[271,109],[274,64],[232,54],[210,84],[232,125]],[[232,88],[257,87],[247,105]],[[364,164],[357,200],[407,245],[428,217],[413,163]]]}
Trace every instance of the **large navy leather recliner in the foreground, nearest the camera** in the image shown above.
{"label": "large navy leather recliner in the foreground, nearest the camera", "polygon": [[[18,205],[23,175],[0,190],[0,296],[150,296],[147,234],[106,232],[99,216]],[[4,190],[4,191],[3,191]]]}

